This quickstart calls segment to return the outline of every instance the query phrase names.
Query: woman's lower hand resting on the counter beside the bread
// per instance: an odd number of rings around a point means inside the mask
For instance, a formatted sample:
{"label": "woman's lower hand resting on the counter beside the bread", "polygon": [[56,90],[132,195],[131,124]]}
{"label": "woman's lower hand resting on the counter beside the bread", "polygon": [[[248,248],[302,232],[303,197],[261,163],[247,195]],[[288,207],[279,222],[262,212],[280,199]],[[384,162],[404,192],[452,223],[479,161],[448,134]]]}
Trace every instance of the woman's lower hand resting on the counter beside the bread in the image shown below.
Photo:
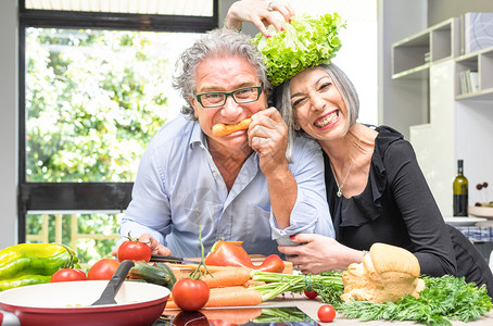
{"label": "woman's lower hand resting on the counter beside the bread", "polygon": [[351,263],[363,261],[363,251],[345,247],[329,237],[299,234],[290,239],[304,244],[279,246],[278,249],[286,254],[288,261],[293,263],[294,269],[301,271],[303,274],[343,271]]}

